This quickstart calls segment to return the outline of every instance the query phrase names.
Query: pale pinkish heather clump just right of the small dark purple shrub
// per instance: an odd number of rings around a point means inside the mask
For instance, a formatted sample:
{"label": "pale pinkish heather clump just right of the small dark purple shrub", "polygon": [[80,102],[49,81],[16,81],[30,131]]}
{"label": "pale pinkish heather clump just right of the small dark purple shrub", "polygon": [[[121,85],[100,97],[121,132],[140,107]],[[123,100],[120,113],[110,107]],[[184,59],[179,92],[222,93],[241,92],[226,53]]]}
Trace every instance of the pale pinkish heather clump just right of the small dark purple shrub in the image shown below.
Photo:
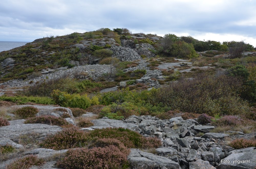
{"label": "pale pinkish heather clump just right of the small dark purple shrub", "polygon": [[220,119],[217,119],[212,124],[216,126],[236,126],[242,123],[242,119],[239,119],[237,116],[223,116]]}

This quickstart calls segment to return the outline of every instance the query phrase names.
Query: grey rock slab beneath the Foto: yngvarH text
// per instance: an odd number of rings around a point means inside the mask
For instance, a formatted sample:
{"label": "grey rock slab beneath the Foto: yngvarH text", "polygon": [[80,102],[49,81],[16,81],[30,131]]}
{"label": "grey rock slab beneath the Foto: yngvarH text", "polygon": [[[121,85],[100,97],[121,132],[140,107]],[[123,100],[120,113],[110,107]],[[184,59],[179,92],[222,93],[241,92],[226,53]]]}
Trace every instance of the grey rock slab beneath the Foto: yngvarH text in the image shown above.
{"label": "grey rock slab beneath the Foto: yngvarH text", "polygon": [[[256,150],[242,153],[232,153],[222,159],[217,169],[248,169],[256,166]],[[230,161],[230,163],[229,163]]]}

